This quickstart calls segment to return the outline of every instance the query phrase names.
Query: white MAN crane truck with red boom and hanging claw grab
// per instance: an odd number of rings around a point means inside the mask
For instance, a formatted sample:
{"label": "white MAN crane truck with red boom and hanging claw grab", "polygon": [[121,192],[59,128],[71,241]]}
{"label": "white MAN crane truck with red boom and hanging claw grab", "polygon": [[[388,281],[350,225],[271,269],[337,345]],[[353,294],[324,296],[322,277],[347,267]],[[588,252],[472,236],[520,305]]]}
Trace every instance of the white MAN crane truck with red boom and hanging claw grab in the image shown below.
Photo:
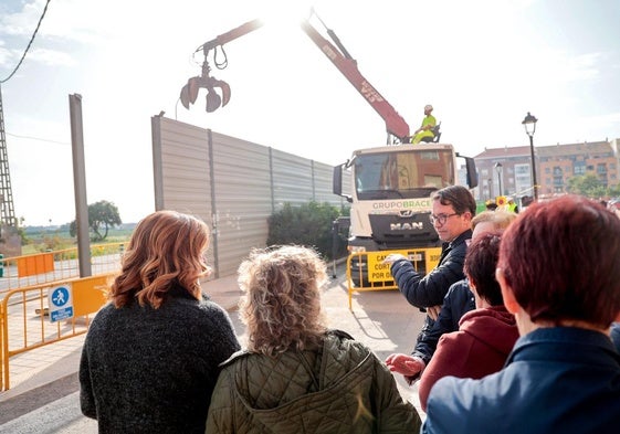
{"label": "white MAN crane truck with red boom and hanging claw grab", "polygon": [[[312,17],[317,18],[334,43],[315,29],[311,23]],[[213,57],[218,68],[225,67],[228,61],[223,45],[262,25],[261,20],[249,21],[196,50],[195,53],[203,53],[202,72],[189,78],[181,88],[183,107],[189,109],[196,103],[200,88],[207,89],[207,112],[229,103],[230,86],[211,75],[209,59]],[[336,33],[314,11],[302,21],[301,28],[386,123],[386,146],[355,150],[351,158],[334,168],[333,191],[350,202],[347,261],[350,307],[351,287],[395,287],[389,266],[382,264],[382,258],[391,252],[404,253],[420,273],[425,274],[437,265],[441,242],[429,219],[432,193],[458,183],[459,157],[465,160],[469,188],[477,186],[477,174],[473,158],[460,156],[452,145],[434,141],[409,145],[407,121],[361,75],[357,62]],[[439,136],[435,135],[435,138]],[[351,191],[348,192],[343,191],[345,174],[351,179]]]}

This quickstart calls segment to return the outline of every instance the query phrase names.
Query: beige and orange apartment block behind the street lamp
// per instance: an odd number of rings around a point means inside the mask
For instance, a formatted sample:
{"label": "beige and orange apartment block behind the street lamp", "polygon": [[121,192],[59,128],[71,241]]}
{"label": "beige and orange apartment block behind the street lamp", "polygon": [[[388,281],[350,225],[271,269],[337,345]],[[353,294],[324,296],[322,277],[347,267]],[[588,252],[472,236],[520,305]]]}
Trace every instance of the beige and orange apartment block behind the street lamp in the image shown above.
{"label": "beige and orange apartment block behind the street lamp", "polygon": [[[596,176],[605,187],[618,186],[619,145],[620,139],[535,146],[538,195],[565,193],[570,178],[586,174]],[[529,146],[485,148],[474,159],[479,172],[479,200],[534,194]]]}

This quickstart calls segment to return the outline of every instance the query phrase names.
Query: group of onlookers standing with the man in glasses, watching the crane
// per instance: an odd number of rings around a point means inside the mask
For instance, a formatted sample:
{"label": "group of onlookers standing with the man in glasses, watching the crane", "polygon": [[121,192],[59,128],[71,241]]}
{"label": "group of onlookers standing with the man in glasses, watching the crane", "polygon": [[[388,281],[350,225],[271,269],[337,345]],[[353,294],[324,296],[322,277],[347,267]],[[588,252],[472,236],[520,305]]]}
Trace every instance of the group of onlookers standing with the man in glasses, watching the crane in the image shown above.
{"label": "group of onlookers standing with the man in glasses, watching the crane", "polygon": [[577,195],[476,215],[470,191],[448,187],[430,220],[443,242],[434,269],[386,257],[403,301],[427,315],[412,353],[381,361],[328,327],[326,264],[298,245],[240,265],[241,348],[200,288],[207,225],[146,216],[85,339],[83,413],[102,433],[616,432],[620,219]]}

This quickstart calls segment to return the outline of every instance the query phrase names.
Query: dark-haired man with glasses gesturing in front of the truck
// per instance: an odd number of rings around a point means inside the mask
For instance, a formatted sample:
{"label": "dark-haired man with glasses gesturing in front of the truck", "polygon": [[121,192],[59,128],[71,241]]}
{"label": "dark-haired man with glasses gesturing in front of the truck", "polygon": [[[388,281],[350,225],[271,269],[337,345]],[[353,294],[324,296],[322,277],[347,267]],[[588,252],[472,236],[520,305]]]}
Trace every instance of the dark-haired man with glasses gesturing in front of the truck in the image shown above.
{"label": "dark-haired man with glasses gesturing in front of the truck", "polygon": [[[430,221],[443,245],[437,267],[425,276],[418,273],[401,254],[390,254],[385,258],[386,263],[391,264],[390,271],[398,289],[411,305],[427,311],[418,341],[432,327],[450,286],[465,277],[463,263],[467,242],[472,237],[471,224],[475,210],[475,199],[465,187],[451,186],[434,193]],[[398,360],[393,363],[398,364]]]}

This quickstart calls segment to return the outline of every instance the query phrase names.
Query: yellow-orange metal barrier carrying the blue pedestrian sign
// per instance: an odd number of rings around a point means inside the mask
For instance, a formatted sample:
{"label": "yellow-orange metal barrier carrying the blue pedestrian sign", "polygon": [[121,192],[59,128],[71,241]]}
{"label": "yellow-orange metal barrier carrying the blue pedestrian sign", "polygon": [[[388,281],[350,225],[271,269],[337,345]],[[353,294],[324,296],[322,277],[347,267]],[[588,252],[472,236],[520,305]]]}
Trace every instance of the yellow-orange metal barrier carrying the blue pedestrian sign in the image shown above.
{"label": "yellow-orange metal barrier carrying the blue pedestrian sign", "polygon": [[0,391],[10,389],[10,358],[83,335],[106,303],[116,273],[34,285],[0,303]]}

